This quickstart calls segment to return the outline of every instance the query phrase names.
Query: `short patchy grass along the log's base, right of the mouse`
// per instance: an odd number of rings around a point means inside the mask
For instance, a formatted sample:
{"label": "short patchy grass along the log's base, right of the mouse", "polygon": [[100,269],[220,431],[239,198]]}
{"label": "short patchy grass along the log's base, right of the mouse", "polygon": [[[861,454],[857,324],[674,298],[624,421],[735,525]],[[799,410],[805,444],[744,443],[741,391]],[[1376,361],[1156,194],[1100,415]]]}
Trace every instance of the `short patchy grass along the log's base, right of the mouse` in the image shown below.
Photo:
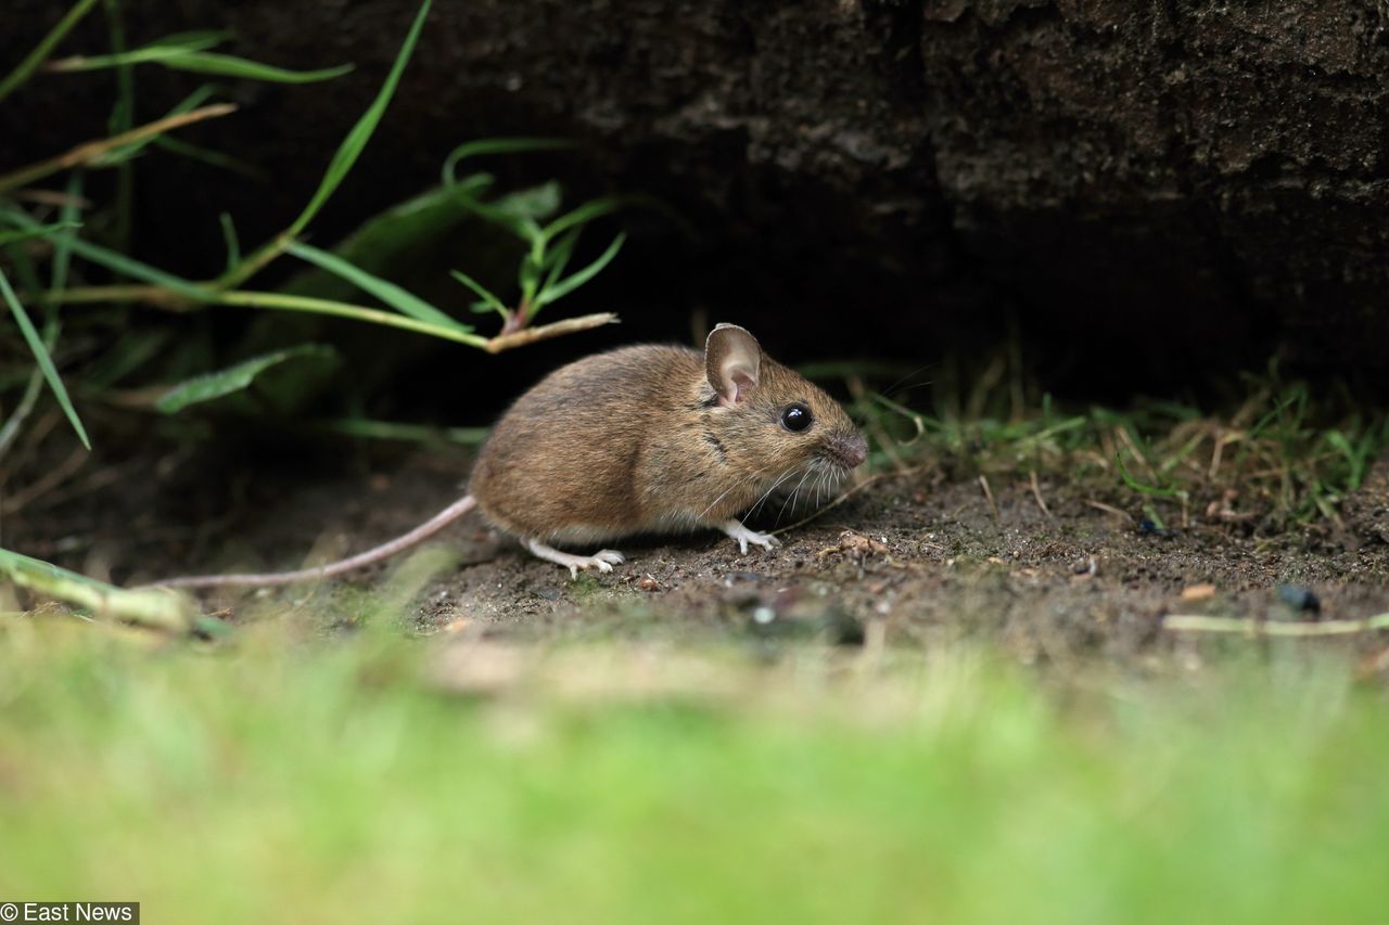
{"label": "short patchy grass along the log's base, right of the mouse", "polygon": [[847,382],[874,469],[925,462],[971,475],[1064,475],[1108,485],[1111,503],[1181,528],[1203,519],[1258,535],[1314,522],[1340,526],[1342,501],[1389,449],[1382,403],[1357,400],[1345,383],[1317,389],[1276,364],[1243,376],[1233,400],[1139,397],[1122,408],[1063,407],[1029,376],[1021,346],[968,388],[949,376],[931,383],[929,408],[910,407],[893,388],[886,394],[870,388],[895,374],[820,367],[818,378]]}

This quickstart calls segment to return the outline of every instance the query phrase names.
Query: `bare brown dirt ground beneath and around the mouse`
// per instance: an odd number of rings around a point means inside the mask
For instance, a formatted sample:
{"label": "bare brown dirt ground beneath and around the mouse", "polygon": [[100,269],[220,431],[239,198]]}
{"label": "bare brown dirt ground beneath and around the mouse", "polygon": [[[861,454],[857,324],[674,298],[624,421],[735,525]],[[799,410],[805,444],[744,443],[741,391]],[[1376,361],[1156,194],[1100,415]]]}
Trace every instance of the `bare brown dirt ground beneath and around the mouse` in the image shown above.
{"label": "bare brown dirt ground beneath and around the mouse", "polygon": [[[68,500],[56,493],[57,501],[33,499],[8,512],[6,544],[125,585],[190,571],[294,568],[424,521],[458,496],[468,456],[358,454],[347,464],[315,462],[324,469],[315,479],[299,465],[253,478],[228,465],[231,475],[210,471],[200,454],[185,453],[94,467],[85,476],[93,490],[69,489]],[[1196,657],[1195,642],[1164,632],[1168,614],[1354,619],[1389,611],[1389,465],[1346,504],[1343,528],[1324,522],[1281,536],[1195,514],[1153,531],[1142,522],[1142,499],[1118,485],[1051,474],[1033,486],[1029,475],[995,472],[986,493],[976,476],[928,460],[914,472],[878,475],[782,533],[778,550],[740,554],[714,535],[647,539],[618,544],[628,560],[611,574],[578,581],[468,517],[433,540],[458,556],[457,567],[413,588],[407,608],[425,633],[979,639],[1028,662],[1129,664]],[[219,490],[201,497],[194,489],[208,479]],[[754,522],[767,529],[779,515],[785,526],[806,514],[768,506]],[[318,601],[351,622],[363,589],[382,588],[393,568],[321,588],[210,590],[203,600],[233,621]],[[1338,644],[1363,654],[1382,647],[1374,635]]]}

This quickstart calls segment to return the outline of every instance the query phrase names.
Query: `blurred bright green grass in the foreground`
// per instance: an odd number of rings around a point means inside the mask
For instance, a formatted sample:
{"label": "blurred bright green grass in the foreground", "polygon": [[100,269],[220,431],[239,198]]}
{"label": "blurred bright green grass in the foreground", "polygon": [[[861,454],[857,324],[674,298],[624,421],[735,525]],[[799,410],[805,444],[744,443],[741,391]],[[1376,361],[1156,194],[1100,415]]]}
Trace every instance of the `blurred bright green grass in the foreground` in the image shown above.
{"label": "blurred bright green grass in the foreground", "polygon": [[[3,618],[0,897],[197,922],[1383,921],[1389,708],[1315,650],[1065,689],[970,650],[838,679],[825,650],[713,651],[722,681],[638,697],[625,650],[569,649],[482,697],[424,681],[429,643],[292,625],[200,651]],[[574,693],[589,664],[606,696]]]}

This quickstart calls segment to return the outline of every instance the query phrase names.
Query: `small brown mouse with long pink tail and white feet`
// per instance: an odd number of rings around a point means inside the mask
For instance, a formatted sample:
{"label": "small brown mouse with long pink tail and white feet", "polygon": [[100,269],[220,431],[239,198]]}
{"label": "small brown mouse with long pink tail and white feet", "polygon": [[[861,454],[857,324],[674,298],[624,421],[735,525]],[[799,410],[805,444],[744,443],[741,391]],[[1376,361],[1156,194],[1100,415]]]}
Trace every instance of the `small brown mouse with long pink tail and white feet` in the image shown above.
{"label": "small brown mouse with long pink tail and white feet", "polygon": [[[467,494],[408,533],[349,558],[292,572],[193,575],[163,588],[289,585],[378,562],[478,511],[533,556],[610,572],[610,543],[636,535],[721,531],[746,554],[774,549],[742,515],[778,489],[836,489],[868,457],[840,404],[720,324],[704,350],[635,344],[550,372],[483,442]],[[600,547],[593,553],[565,551]]]}

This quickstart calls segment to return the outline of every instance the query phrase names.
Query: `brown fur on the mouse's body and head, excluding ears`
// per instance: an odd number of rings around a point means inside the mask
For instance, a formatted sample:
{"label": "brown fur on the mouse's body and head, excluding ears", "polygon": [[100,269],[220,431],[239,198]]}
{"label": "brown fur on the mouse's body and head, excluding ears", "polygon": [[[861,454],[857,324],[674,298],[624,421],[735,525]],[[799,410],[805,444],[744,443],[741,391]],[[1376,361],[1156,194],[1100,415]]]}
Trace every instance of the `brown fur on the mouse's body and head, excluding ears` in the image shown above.
{"label": "brown fur on the mouse's body and head, excluding ears", "polygon": [[[793,401],[814,415],[801,433],[781,425]],[[722,407],[703,353],[622,347],[522,394],[483,446],[468,492],[517,536],[601,543],[715,526],[803,472],[810,483],[838,482],[863,447],[833,399],[765,354],[757,385]]]}

